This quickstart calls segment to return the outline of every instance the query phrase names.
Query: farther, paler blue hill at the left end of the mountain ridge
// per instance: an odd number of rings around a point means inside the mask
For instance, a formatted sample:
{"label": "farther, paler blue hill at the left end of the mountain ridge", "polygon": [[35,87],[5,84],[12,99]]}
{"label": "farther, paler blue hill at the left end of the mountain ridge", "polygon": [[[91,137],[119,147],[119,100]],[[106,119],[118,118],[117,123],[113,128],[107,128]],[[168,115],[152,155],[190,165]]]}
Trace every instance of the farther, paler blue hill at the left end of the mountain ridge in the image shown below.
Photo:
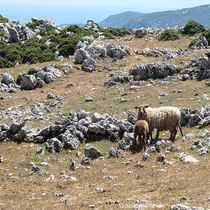
{"label": "farther, paler blue hill at the left end of the mountain ridge", "polygon": [[130,19],[141,17],[145,15],[145,13],[140,12],[124,12],[118,15],[111,15],[107,19],[101,21],[99,23],[102,27],[113,27],[113,28],[121,28],[125,25]]}

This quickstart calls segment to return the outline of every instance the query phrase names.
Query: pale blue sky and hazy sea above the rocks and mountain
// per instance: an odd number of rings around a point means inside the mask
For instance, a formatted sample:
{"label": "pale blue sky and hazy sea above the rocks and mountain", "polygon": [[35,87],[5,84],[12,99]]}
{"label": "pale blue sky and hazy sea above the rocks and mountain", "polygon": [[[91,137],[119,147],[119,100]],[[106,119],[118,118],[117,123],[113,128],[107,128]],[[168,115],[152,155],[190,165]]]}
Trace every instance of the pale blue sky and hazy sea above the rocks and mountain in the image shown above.
{"label": "pale blue sky and hazy sea above the rocks and mountain", "polygon": [[0,14],[21,23],[32,17],[51,18],[57,24],[99,23],[125,11],[159,12],[210,4],[210,0],[0,0]]}

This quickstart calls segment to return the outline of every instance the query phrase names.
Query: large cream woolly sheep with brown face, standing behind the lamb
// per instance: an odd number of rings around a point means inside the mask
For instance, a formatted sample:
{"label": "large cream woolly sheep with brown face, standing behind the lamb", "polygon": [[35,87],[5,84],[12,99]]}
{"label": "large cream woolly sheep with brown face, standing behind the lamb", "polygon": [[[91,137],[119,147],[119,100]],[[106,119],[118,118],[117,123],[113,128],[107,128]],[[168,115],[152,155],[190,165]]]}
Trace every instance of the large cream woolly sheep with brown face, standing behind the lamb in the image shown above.
{"label": "large cream woolly sheep with brown face, standing behind the lamb", "polygon": [[153,143],[152,132],[154,129],[157,129],[156,139],[158,139],[160,131],[169,130],[170,140],[174,142],[178,128],[183,136],[180,126],[181,112],[178,108],[171,106],[150,108],[147,105],[140,105],[135,108],[138,109],[138,120],[146,120],[149,124],[151,144]]}

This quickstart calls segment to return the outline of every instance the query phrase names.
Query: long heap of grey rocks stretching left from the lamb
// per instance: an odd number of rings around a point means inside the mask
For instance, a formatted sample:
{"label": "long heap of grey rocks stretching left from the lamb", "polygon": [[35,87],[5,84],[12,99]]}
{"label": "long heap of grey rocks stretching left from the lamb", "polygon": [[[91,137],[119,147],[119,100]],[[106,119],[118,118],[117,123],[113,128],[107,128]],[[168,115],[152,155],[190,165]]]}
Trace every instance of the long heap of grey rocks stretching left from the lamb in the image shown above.
{"label": "long heap of grey rocks stretching left from the lamb", "polygon": [[82,110],[44,128],[34,137],[34,142],[46,142],[47,150],[60,152],[62,148],[76,149],[84,139],[87,142],[104,138],[115,141],[132,129],[133,125],[128,120],[117,120],[112,114],[88,116]]}

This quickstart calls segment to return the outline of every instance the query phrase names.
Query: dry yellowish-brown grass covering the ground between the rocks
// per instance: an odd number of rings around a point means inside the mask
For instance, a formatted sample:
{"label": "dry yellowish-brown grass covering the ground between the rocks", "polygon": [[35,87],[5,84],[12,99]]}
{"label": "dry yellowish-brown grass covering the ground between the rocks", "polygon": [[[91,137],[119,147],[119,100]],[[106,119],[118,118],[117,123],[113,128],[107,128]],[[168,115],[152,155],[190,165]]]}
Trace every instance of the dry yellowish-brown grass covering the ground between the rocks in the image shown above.
{"label": "dry yellowish-brown grass covering the ground between the rocks", "polygon": [[[135,39],[132,41],[108,40],[107,42],[128,45],[132,49],[143,49],[150,47],[168,47],[173,50],[186,48],[190,40],[184,37],[174,42],[158,42],[150,37],[149,41]],[[169,62],[182,65],[190,58],[199,56],[203,51],[193,55],[178,57]],[[59,119],[61,115],[67,115],[71,110],[78,111],[85,109],[91,112],[113,113],[117,118],[126,118],[123,112],[133,110],[139,103],[147,103],[151,106],[173,105],[177,107],[191,107],[199,109],[207,101],[201,98],[202,93],[210,96],[210,90],[205,86],[205,81],[185,81],[177,82],[168,86],[141,86],[138,91],[130,90],[128,84],[118,84],[117,88],[104,87],[104,82],[109,80],[109,72],[103,70],[104,64],[112,67],[115,73],[128,75],[128,71],[135,64],[155,62],[163,58],[151,58],[144,56],[130,56],[126,59],[113,63],[112,59],[97,61],[98,72],[87,73],[78,70],[62,78],[57,79],[50,85],[42,89],[33,91],[17,90],[13,94],[1,95],[12,96],[1,103],[4,108],[23,104],[30,106],[33,103],[47,101],[47,93],[63,96],[64,105],[60,110],[53,111],[54,117],[51,121],[32,121],[28,125],[44,127]],[[17,68],[3,69],[2,73],[8,72],[15,78],[20,72],[27,72],[33,67],[43,67],[50,62],[36,65],[21,65]],[[74,65],[71,61],[65,63]],[[72,83],[74,86],[67,87]],[[148,82],[146,82],[147,84]],[[93,89],[94,88],[94,89]],[[199,96],[195,97],[194,88],[198,89]],[[173,89],[183,90],[182,93],[172,93]],[[165,97],[158,97],[160,91],[166,92]],[[24,97],[28,96],[29,100]],[[92,96],[94,102],[85,103],[84,99]],[[116,101],[118,97],[126,99],[120,103]],[[11,123],[2,118],[1,123]],[[193,132],[196,135],[200,132],[197,128],[184,128],[184,133]],[[196,139],[196,138],[195,138]],[[90,168],[80,167],[76,171],[68,169],[69,159],[76,159],[76,151],[67,154],[63,151],[60,154],[45,153],[44,156],[35,154],[36,148],[44,145],[16,144],[14,142],[2,143],[0,145],[0,155],[4,157],[4,162],[0,163],[0,208],[2,209],[87,209],[88,205],[95,204],[96,208],[119,209],[119,205],[108,205],[106,201],[118,200],[123,206],[135,204],[136,200],[146,199],[149,204],[163,204],[162,209],[168,209],[171,204],[183,203],[189,206],[201,206],[210,208],[208,196],[210,196],[210,159],[209,155],[198,156],[196,151],[191,151],[191,144],[195,139],[182,142],[180,139],[175,143],[183,148],[183,151],[191,153],[199,160],[198,164],[183,164],[179,161],[176,153],[168,155],[168,160],[173,162],[172,166],[163,166],[156,161],[158,154],[152,154],[152,159],[145,162],[144,168],[136,168],[134,164],[141,161],[142,153],[133,155],[129,152],[122,153],[117,159],[107,158],[110,147],[117,147],[117,143],[109,141],[94,142],[93,144],[105,154],[105,160],[92,161]],[[83,143],[77,151],[83,154]],[[131,159],[127,166],[123,161]],[[79,159],[80,160],[80,159]],[[77,160],[79,162],[79,160]],[[44,176],[31,173],[31,162],[39,165],[46,161],[50,166],[42,167],[48,174]],[[28,171],[24,172],[24,169]],[[164,170],[162,170],[164,169]],[[74,176],[77,181],[65,181],[59,174],[65,170],[66,174]],[[128,174],[131,171],[131,174]],[[47,182],[51,174],[55,176],[54,182]],[[114,179],[103,178],[104,176],[116,176]],[[113,184],[122,184],[114,187]],[[103,188],[104,192],[98,192],[96,188]],[[46,193],[46,194],[45,194]],[[61,202],[61,198],[55,198],[55,193],[69,195],[66,202]],[[186,196],[187,201],[180,201]]]}

